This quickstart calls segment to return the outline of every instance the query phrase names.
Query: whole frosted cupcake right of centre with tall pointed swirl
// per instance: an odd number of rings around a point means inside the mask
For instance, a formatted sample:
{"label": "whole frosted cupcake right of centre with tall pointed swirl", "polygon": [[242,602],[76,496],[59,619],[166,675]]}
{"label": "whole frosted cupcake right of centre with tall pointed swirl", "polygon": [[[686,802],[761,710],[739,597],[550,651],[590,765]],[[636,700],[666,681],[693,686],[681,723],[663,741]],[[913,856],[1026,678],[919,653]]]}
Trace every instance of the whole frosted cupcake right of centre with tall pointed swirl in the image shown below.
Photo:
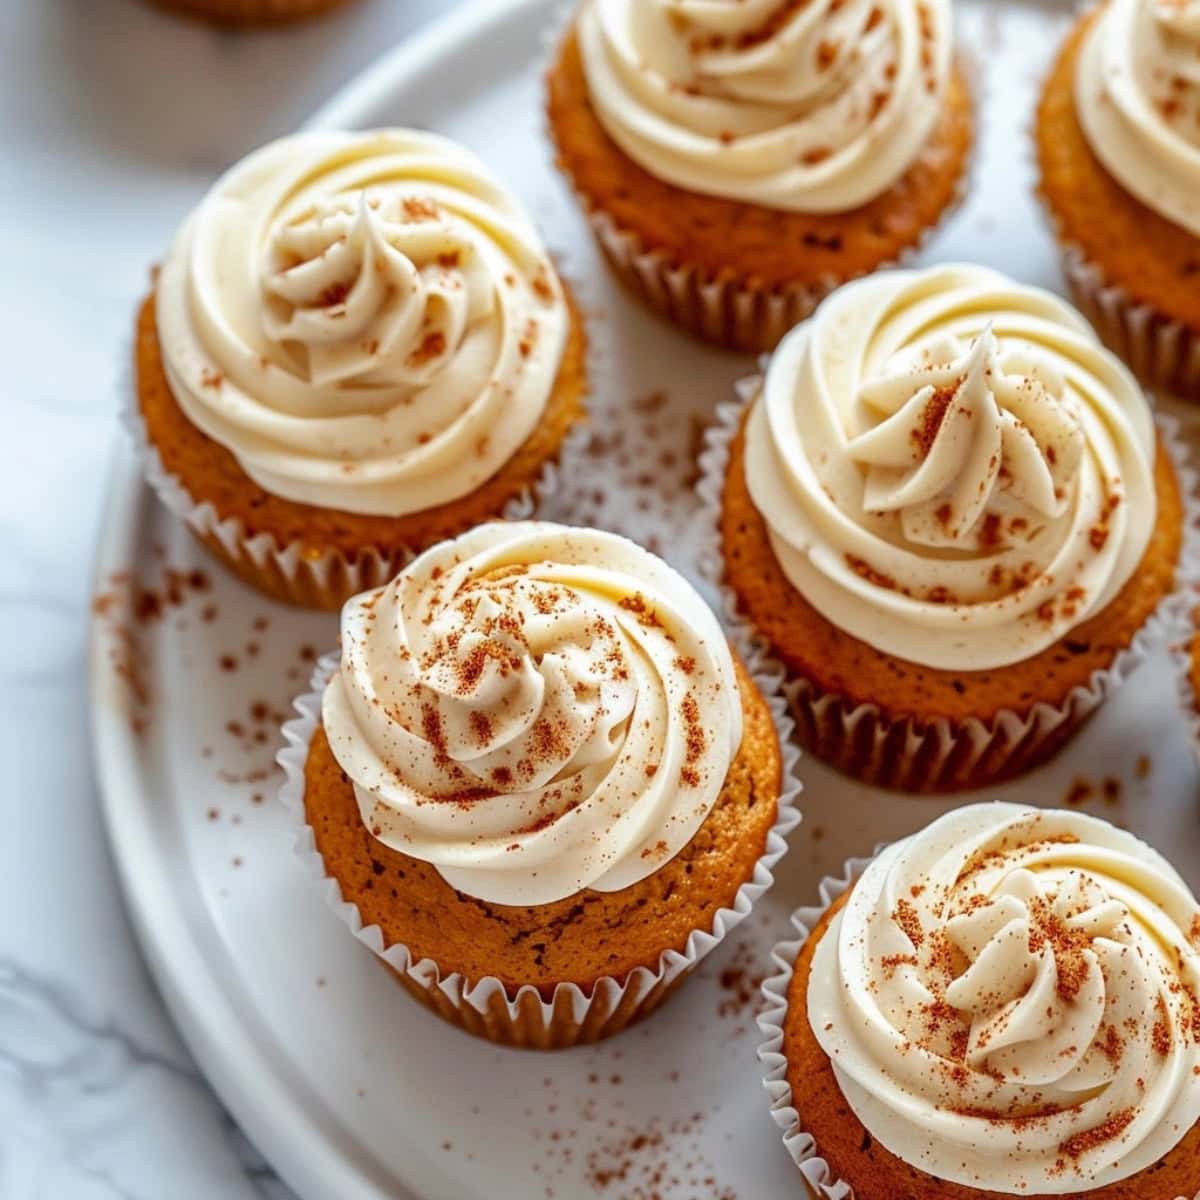
{"label": "whole frosted cupcake right of centre with tall pointed swirl", "polygon": [[730,600],[803,742],[868,782],[1049,757],[1145,654],[1184,527],[1133,376],[1067,304],[977,266],[881,272],[709,434]]}

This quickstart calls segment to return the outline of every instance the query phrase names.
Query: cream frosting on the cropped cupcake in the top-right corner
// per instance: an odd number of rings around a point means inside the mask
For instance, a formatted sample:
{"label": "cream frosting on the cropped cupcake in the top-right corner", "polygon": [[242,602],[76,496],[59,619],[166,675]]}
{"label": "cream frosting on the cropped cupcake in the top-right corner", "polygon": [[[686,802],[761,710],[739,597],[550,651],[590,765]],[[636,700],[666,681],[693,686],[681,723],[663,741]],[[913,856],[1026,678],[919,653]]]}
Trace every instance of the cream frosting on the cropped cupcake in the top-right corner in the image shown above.
{"label": "cream frosting on the cropped cupcake in the top-right corner", "polygon": [[1200,236],[1200,0],[1109,0],[1079,55],[1075,108],[1109,174]]}

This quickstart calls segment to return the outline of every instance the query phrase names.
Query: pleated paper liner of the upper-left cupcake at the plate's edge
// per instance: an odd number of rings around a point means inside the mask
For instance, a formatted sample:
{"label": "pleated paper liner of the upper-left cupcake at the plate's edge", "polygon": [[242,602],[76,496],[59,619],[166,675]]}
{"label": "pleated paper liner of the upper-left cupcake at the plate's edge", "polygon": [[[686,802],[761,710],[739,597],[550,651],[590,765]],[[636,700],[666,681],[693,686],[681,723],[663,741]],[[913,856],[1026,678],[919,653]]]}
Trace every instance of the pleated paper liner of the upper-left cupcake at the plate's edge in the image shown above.
{"label": "pleated paper liner of the upper-left cupcake at the plate's edge", "polygon": [[[586,361],[588,379],[594,379],[592,340],[588,338]],[[131,355],[126,355],[128,362]],[[205,546],[251,586],[277,600],[304,608],[340,608],[350,596],[380,587],[413,560],[422,546],[401,547],[384,553],[368,547],[353,558],[336,550],[313,554],[311,548],[293,541],[280,545],[274,534],[251,534],[239,517],[224,517],[208,500],[198,502],[179,476],[163,466],[157,448],[150,442],[138,407],[137,380],[126,366],[121,389],[120,421],[137,451],[145,481]],[[548,458],[536,480],[514,496],[496,516],[506,521],[527,521],[553,497],[560,484],[560,464],[582,454],[588,438],[588,414],[584,412],[568,430],[557,454]]]}

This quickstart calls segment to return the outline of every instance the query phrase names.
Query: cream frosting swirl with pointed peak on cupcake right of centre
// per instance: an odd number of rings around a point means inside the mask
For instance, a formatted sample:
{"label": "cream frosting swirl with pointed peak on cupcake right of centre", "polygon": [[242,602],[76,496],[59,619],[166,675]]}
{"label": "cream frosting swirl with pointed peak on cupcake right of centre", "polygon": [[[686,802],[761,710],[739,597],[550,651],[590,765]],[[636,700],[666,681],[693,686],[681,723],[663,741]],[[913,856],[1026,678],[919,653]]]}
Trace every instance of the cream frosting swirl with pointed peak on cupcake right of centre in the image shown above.
{"label": "cream frosting swirl with pointed peak on cupcake right of centre", "polygon": [[835,292],[775,350],[746,480],[791,583],[876,649],[1016,662],[1099,612],[1154,527],[1154,425],[1062,300],[978,266]]}

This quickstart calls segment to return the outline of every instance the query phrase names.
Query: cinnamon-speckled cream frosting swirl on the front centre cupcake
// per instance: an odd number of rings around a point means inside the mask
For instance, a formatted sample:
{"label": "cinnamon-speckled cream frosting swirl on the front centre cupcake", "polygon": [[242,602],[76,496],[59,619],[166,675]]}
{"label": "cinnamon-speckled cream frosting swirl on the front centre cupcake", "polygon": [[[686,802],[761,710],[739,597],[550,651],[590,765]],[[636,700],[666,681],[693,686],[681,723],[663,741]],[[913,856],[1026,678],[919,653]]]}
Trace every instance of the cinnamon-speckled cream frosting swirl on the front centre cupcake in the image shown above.
{"label": "cinnamon-speckled cream frosting swirl on the front centre cupcake", "polygon": [[510,905],[653,874],[742,740],[692,587],[624,538],[540,522],[481,526],[348,601],[322,720],[376,838]]}

